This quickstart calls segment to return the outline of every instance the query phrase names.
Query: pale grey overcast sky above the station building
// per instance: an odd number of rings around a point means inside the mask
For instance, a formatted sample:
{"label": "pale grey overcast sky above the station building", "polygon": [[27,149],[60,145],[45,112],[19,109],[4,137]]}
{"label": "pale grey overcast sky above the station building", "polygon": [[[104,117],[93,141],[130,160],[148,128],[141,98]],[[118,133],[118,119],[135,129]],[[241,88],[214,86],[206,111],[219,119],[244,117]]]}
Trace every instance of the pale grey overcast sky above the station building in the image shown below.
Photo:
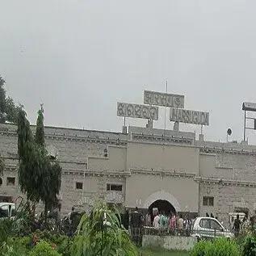
{"label": "pale grey overcast sky above the station building", "polygon": [[[210,141],[241,141],[256,102],[255,0],[0,0],[0,75],[31,123],[120,131],[116,102],[143,90],[209,111]],[[164,127],[164,110],[155,127]],[[145,120],[128,120],[145,125]],[[173,124],[167,121],[167,128]],[[197,134],[195,125],[183,130]],[[256,143],[256,131],[248,132]]]}

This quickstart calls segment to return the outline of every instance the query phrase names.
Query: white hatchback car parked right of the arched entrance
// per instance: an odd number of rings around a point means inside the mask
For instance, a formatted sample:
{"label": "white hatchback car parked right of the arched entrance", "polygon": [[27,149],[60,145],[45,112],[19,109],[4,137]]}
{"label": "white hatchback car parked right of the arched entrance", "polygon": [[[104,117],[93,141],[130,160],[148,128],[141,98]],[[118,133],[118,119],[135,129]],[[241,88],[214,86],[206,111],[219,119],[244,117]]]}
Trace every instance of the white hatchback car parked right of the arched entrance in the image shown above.
{"label": "white hatchback car parked right of the arched entrance", "polygon": [[191,225],[191,236],[200,238],[227,237],[233,238],[234,234],[225,229],[220,221],[210,217],[198,217]]}

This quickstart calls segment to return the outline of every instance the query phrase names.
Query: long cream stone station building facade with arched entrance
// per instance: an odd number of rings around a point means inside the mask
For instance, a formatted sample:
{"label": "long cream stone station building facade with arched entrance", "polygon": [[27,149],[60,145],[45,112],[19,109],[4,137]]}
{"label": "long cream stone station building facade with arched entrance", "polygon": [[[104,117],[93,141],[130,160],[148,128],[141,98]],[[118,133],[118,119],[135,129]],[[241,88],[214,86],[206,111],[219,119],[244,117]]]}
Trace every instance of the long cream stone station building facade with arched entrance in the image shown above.
{"label": "long cream stone station building facade with arched entrance", "polygon": [[[35,127],[31,127],[35,130]],[[0,201],[19,190],[17,127],[0,124],[6,170]],[[103,132],[45,127],[48,153],[62,166],[61,213],[89,211],[99,199],[124,208],[153,207],[191,216],[212,213],[225,223],[229,212],[254,215],[256,146],[197,140],[194,132],[129,127]]]}

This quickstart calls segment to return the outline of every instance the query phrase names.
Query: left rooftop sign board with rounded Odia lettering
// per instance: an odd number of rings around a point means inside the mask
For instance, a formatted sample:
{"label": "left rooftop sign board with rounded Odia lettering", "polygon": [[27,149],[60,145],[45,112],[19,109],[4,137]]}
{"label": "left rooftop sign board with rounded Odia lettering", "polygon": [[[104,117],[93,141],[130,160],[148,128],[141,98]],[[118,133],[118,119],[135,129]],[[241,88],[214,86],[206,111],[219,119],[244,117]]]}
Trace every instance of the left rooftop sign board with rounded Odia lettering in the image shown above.
{"label": "left rooftop sign board with rounded Odia lettering", "polygon": [[117,115],[158,120],[158,107],[131,103],[117,103]]}

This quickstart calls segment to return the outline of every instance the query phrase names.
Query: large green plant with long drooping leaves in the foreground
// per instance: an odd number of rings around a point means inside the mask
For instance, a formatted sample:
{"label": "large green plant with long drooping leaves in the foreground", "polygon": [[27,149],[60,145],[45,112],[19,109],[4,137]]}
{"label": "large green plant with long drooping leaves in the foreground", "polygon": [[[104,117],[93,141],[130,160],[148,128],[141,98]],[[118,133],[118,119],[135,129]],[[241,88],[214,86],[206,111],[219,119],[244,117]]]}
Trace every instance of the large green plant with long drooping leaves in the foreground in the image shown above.
{"label": "large green plant with long drooping leaves in the foreground", "polygon": [[105,204],[82,216],[73,243],[74,256],[136,256],[136,246],[121,225],[120,215]]}

